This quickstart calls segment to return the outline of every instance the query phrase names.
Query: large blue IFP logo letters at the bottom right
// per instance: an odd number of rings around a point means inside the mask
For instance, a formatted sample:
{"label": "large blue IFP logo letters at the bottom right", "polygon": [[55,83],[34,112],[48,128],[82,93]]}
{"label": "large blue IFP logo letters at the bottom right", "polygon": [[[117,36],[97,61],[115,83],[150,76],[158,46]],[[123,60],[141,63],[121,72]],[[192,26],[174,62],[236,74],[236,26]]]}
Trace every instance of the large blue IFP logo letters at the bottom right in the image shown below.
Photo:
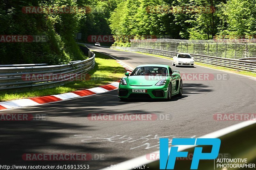
{"label": "large blue IFP logo letters at the bottom right", "polygon": [[[174,169],[177,157],[188,157],[188,152],[178,152],[178,146],[172,146],[168,159],[168,145],[168,138],[160,138],[160,169]],[[211,153],[202,153],[202,147],[195,147],[190,169],[197,169],[200,159],[216,159],[220,151],[218,138],[173,138],[172,145],[212,145]]]}

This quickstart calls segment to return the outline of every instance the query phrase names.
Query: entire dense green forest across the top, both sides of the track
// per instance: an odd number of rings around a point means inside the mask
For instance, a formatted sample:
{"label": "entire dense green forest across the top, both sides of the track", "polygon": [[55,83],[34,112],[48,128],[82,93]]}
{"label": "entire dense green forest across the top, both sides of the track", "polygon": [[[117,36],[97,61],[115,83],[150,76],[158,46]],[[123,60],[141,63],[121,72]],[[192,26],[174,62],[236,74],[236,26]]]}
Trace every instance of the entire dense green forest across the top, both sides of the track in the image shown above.
{"label": "entire dense green forest across the top, both sides of the track", "polygon": [[[207,40],[252,38],[256,0],[3,0],[0,35],[44,35],[47,41],[0,42],[0,64],[68,63],[85,56],[76,45],[90,35],[117,35],[114,45],[132,37]],[[78,12],[25,11],[24,7],[86,7]]]}

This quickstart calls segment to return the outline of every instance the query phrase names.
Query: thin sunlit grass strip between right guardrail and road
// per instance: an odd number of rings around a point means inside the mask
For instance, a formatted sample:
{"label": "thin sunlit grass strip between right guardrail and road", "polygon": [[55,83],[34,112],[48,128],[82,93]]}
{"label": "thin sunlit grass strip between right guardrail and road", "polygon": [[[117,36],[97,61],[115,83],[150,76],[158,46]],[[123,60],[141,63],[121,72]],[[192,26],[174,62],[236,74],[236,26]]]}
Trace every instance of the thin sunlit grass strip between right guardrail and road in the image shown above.
{"label": "thin sunlit grass strip between right guardrail and road", "polygon": [[[126,51],[126,50],[120,50],[120,49],[115,49],[115,50]],[[127,52],[131,52],[131,51],[127,51]],[[161,58],[165,58],[165,59],[168,59],[168,60],[172,60],[172,58],[166,57],[166,56],[163,56],[163,55],[155,55],[155,54],[148,54],[148,53],[141,53],[141,52],[133,52],[133,53],[146,54],[146,55],[151,55],[151,56],[155,56],[155,57],[161,57]],[[198,62],[195,62],[195,64],[199,65],[199,66],[212,68],[212,69],[223,70],[223,71],[228,71],[228,72],[231,72],[231,73],[242,74],[242,75],[245,75],[245,76],[256,77],[256,73],[249,72],[249,71],[239,71],[239,70],[235,70],[235,69],[229,69],[229,68],[226,68],[226,67],[220,67],[220,66],[198,63]]]}

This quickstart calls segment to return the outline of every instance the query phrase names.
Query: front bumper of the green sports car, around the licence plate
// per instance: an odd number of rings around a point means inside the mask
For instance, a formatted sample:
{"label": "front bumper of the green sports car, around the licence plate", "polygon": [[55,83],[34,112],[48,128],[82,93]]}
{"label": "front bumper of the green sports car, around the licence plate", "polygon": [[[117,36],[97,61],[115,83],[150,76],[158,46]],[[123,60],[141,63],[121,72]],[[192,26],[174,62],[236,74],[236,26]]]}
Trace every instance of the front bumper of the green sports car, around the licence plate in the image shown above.
{"label": "front bumper of the green sports car, around the licence plate", "polygon": [[[132,92],[132,89],[146,89],[147,92]],[[121,85],[118,88],[118,98],[127,99],[166,99],[168,92],[168,85],[161,86],[132,86]]]}

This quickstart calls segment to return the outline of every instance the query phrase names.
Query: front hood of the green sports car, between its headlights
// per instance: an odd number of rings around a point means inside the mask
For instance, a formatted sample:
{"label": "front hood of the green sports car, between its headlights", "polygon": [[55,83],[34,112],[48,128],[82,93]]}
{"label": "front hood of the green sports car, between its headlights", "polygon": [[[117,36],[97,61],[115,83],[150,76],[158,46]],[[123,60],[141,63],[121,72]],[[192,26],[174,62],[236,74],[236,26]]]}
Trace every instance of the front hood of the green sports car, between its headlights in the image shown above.
{"label": "front hood of the green sports car, between its headlights", "polygon": [[165,76],[128,76],[128,84],[136,86],[150,86],[155,85],[162,79],[166,79]]}

